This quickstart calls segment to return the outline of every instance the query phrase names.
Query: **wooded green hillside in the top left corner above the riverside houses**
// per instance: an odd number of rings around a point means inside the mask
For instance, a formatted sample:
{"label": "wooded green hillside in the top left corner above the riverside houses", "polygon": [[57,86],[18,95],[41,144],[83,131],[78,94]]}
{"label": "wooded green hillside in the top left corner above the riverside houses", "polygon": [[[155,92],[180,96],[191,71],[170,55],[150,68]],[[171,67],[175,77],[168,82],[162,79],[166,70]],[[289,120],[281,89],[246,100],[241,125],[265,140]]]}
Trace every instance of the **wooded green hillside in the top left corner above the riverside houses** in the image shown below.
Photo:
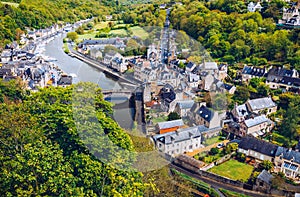
{"label": "wooded green hillside in the top left corner above the riverside houses", "polygon": [[20,31],[17,29],[41,29],[61,21],[76,22],[92,16],[102,16],[111,10],[105,4],[106,1],[95,0],[23,0],[18,7],[0,3],[0,47],[5,40],[19,39]]}

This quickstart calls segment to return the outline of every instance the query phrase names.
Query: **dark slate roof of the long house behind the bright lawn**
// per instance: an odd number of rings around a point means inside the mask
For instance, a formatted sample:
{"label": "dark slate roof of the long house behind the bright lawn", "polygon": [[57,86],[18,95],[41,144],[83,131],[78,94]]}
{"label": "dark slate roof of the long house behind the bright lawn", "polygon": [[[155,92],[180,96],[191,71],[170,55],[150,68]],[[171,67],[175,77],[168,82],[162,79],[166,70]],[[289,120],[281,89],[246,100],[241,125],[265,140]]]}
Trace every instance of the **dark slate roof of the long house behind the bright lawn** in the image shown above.
{"label": "dark slate roof of the long house behind the bright lawn", "polygon": [[264,140],[246,136],[241,139],[241,142],[239,143],[239,148],[242,148],[244,150],[253,150],[261,154],[274,157],[278,146],[266,142]]}

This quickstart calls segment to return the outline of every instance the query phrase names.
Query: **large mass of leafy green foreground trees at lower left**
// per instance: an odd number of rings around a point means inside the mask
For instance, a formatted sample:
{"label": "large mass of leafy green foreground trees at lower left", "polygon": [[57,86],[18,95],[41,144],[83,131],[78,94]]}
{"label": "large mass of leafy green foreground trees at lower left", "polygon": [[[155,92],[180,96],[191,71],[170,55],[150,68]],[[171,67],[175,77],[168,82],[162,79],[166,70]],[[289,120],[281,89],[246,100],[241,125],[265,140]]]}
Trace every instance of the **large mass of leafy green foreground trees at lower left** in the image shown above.
{"label": "large mass of leafy green foreground trees at lower left", "polygon": [[110,117],[111,104],[96,85],[41,89],[0,111],[2,194],[142,196],[147,184],[130,167],[132,141]]}

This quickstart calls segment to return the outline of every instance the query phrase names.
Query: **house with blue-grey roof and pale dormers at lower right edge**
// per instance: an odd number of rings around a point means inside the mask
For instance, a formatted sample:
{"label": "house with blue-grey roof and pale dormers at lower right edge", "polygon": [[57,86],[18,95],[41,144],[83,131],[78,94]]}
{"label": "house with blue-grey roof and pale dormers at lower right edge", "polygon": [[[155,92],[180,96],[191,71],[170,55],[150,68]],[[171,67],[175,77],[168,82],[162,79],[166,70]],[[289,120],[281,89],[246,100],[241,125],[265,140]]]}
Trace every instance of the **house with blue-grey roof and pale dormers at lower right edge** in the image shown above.
{"label": "house with blue-grey roof and pale dormers at lower right edge", "polygon": [[275,171],[280,171],[289,178],[300,178],[300,152],[278,147],[275,154]]}

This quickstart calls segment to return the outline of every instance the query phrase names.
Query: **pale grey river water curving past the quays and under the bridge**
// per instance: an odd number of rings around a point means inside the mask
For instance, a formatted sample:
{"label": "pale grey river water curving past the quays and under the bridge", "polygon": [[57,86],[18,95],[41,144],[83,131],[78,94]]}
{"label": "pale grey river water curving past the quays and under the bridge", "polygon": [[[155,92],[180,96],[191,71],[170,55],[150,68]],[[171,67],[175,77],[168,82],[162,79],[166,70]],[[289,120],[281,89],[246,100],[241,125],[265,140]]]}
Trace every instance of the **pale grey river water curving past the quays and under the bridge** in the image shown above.
{"label": "pale grey river water curving past the quays and under the bridge", "polygon": [[[62,69],[67,74],[74,73],[77,75],[75,82],[93,82],[97,83],[103,90],[112,90],[112,89],[121,89],[120,83],[118,81],[107,77],[104,73],[89,66],[88,64],[70,57],[65,54],[63,47],[63,38],[64,34],[59,34],[54,40],[50,41],[45,46],[45,55],[57,59],[55,64]],[[111,99],[113,103],[122,102],[120,99],[124,98],[114,98]],[[131,129],[133,127],[133,117],[134,109],[125,108],[125,109],[114,109],[114,119],[119,123],[122,128]]]}

